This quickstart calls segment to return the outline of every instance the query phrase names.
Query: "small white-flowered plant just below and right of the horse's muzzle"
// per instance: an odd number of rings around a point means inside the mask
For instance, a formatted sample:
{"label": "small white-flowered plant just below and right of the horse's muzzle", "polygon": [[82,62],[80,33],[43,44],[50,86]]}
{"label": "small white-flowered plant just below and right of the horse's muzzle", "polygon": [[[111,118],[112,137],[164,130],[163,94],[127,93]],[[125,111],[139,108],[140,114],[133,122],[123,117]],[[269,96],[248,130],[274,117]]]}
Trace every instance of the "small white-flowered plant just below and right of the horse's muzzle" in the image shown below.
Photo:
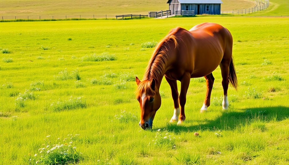
{"label": "small white-flowered plant just below and right of the horse's muzzle", "polygon": [[171,149],[176,148],[175,137],[170,135],[166,130],[158,130],[152,143],[155,147],[168,147]]}

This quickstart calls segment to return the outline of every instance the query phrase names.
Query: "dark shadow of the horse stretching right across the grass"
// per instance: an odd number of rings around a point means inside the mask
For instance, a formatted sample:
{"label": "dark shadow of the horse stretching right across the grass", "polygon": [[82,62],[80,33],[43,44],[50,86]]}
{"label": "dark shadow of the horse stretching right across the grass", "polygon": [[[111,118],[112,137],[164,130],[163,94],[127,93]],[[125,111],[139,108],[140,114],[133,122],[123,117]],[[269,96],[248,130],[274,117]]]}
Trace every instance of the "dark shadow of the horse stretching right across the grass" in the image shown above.
{"label": "dark shadow of the horse stretching right across the grass", "polygon": [[[162,128],[153,128],[152,130],[166,129],[176,134],[181,132],[195,132],[199,130],[235,130],[252,122],[282,121],[289,117],[289,107],[273,106],[264,108],[246,108],[241,112],[223,111],[222,115],[214,120],[186,120],[186,124],[177,125],[176,123],[167,123]],[[200,123],[200,124],[199,124]],[[189,124],[189,125],[188,125]]]}

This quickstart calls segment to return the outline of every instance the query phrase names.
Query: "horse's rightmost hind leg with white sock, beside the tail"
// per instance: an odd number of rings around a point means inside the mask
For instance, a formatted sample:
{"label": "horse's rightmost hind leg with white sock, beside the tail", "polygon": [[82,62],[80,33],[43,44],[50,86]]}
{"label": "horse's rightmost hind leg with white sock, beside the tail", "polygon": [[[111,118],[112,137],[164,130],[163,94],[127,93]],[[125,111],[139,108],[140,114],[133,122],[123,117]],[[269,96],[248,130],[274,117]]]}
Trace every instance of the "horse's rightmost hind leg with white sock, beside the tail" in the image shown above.
{"label": "horse's rightmost hind leg with white sock, beside the tail", "polygon": [[222,85],[224,90],[224,97],[223,97],[223,110],[227,110],[229,106],[228,102],[228,85],[229,85],[229,66],[230,66],[231,58],[223,59],[220,63],[221,73],[222,73]]}

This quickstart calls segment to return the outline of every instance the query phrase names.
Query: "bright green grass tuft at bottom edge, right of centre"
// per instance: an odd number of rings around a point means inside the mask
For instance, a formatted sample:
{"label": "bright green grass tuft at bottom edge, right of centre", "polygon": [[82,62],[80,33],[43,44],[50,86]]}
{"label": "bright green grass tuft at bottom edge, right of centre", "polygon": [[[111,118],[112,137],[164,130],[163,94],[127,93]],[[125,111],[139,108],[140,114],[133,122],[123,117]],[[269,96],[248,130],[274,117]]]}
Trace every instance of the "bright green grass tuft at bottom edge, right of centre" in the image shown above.
{"label": "bright green grass tuft at bottom edge, right of centre", "polygon": [[180,164],[186,164],[186,165],[202,164],[200,154],[190,154],[184,151],[181,151],[178,155],[176,155],[175,159]]}

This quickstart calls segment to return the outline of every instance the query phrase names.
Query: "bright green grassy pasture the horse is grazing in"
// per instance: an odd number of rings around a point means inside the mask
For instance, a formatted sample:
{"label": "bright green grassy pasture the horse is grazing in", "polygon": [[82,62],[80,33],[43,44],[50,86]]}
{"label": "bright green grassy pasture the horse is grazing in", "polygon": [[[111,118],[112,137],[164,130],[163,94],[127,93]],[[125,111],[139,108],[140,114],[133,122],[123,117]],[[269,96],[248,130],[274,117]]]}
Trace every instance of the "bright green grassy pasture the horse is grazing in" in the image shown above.
{"label": "bright green grassy pasture the horse is grazing in", "polygon": [[[205,82],[192,79],[186,121],[169,123],[173,100],[163,80],[153,129],[142,130],[134,76],[142,78],[153,52],[142,45],[202,22],[234,38],[239,88],[228,90],[229,110],[222,111],[217,68],[208,112],[199,113]],[[58,144],[71,134],[79,134],[72,143],[79,164],[289,164],[288,24],[287,17],[1,22],[0,164],[35,164],[44,139]]]}

